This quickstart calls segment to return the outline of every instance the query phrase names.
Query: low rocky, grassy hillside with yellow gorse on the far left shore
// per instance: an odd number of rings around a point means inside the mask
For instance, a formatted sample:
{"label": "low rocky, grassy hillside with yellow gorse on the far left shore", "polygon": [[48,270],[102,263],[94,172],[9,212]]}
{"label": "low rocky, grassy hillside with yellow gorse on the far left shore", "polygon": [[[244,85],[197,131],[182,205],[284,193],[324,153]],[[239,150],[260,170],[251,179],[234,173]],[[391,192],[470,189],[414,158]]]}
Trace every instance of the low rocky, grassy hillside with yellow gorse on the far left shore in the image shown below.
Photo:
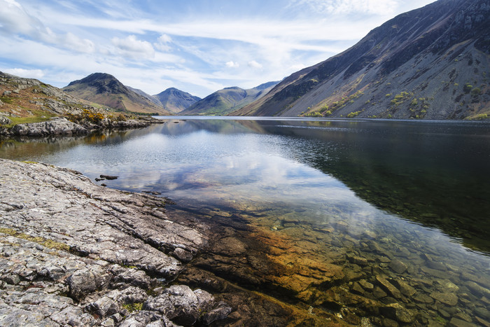
{"label": "low rocky, grassy hillside with yellow gorse on the far left shore", "polygon": [[151,121],[96,109],[36,79],[0,72],[0,135],[87,134],[105,127],[144,127]]}

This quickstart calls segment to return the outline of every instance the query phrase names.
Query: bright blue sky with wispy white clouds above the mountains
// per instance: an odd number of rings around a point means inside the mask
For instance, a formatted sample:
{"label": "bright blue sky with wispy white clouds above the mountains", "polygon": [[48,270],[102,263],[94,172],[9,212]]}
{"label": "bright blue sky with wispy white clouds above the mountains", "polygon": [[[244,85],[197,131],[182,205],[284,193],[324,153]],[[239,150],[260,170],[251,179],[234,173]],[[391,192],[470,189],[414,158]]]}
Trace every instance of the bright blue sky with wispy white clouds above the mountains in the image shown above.
{"label": "bright blue sky with wispy white clouds above the mountains", "polygon": [[0,71],[58,88],[95,72],[156,95],[253,88],[434,0],[0,0]]}

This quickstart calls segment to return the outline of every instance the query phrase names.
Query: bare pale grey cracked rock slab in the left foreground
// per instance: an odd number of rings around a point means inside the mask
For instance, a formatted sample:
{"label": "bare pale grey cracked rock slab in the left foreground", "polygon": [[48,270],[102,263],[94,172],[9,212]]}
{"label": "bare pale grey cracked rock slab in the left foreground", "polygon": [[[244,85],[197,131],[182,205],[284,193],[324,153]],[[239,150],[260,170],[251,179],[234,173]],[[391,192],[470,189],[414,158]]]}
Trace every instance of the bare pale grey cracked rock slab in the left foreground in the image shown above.
{"label": "bare pale grey cracked rock slab in the left foreground", "polygon": [[0,184],[0,325],[209,325],[232,312],[169,286],[208,239],[170,221],[165,198],[2,159]]}

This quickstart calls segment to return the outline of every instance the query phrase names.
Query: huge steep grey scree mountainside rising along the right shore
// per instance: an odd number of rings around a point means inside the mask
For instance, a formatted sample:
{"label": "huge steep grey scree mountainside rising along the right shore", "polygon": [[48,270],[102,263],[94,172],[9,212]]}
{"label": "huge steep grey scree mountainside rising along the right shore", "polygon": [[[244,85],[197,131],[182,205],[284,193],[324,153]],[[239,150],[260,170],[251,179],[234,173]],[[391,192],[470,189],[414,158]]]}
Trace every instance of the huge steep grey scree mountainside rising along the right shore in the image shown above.
{"label": "huge steep grey scree mountainside rising along the right shore", "polygon": [[240,116],[490,116],[490,2],[439,0],[285,78]]}

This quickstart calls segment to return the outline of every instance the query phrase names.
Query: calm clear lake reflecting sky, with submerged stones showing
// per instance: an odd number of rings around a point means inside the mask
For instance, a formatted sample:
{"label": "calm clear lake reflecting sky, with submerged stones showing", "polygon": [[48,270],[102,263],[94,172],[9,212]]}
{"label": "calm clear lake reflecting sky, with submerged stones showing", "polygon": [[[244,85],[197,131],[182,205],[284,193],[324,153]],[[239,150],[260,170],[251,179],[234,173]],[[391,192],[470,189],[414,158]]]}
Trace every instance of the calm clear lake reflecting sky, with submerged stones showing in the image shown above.
{"label": "calm clear lake reflecting sky, with submerged stones showing", "polygon": [[212,235],[193,267],[303,314],[489,326],[489,122],[160,118],[0,157],[162,193]]}

